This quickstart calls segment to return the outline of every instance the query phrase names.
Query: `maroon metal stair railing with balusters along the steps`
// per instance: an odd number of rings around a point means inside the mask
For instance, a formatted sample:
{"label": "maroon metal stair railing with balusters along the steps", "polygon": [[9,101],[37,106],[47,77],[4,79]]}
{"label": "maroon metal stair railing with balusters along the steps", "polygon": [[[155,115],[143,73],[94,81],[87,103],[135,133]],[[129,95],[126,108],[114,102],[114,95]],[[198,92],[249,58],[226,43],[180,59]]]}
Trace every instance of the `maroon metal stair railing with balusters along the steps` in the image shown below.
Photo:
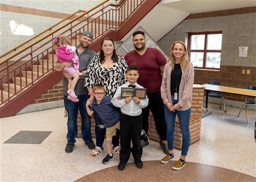
{"label": "maroon metal stair railing with balusters along the steps", "polygon": [[4,55],[7,58],[0,61],[0,106],[55,71],[56,55],[52,41],[57,35],[71,37],[71,44],[77,45],[79,36],[84,31],[91,31],[94,34],[94,41],[97,41],[109,31],[118,30],[145,1],[122,0],[116,5],[110,4],[109,0],[103,1],[16,53],[10,55],[13,51],[10,50]]}

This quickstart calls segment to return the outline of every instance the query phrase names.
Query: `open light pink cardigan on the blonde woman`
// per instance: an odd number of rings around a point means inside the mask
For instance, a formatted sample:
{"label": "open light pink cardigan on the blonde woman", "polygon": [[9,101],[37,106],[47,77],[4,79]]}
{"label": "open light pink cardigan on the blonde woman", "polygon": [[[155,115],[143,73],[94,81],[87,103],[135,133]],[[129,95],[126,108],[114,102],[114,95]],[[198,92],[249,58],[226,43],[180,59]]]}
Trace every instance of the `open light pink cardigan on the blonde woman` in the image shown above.
{"label": "open light pink cardigan on the blonde woman", "polygon": [[[163,79],[161,85],[161,97],[163,103],[170,102],[173,106],[172,96],[170,95],[170,74],[172,73],[172,62],[168,62],[164,67]],[[194,67],[192,63],[186,66],[185,70],[182,71],[180,88],[179,88],[179,111],[188,110],[191,107],[192,92],[194,84]]]}

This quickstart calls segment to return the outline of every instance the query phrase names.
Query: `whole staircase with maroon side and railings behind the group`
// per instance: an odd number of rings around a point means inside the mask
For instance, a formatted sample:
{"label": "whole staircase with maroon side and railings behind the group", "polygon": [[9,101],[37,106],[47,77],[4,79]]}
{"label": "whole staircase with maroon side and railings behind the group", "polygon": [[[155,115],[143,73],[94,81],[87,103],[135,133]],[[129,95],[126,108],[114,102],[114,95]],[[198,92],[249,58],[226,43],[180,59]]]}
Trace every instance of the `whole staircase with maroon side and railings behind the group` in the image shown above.
{"label": "whole staircase with maroon side and railings behind the group", "polygon": [[78,45],[80,35],[91,31],[91,49],[97,53],[104,37],[121,40],[159,1],[121,0],[115,5],[103,1],[88,11],[77,11],[80,15],[70,15],[66,19],[72,20],[47,29],[51,30],[47,35],[41,33],[1,55],[0,117],[15,115],[62,79],[62,73],[54,70],[52,41],[57,35],[65,34],[72,45]]}

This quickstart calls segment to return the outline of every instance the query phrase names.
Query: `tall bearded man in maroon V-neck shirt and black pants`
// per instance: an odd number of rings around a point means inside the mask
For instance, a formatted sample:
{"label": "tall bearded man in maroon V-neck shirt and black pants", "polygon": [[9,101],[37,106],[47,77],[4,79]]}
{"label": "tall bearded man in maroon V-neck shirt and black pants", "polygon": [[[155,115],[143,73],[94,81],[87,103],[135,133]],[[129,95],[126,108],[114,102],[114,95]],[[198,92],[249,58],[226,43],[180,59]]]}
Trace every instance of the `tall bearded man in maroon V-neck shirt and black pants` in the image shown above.
{"label": "tall bearded man in maroon V-neck shirt and black pants", "polygon": [[147,137],[148,132],[148,115],[150,110],[153,114],[156,130],[159,135],[160,146],[165,153],[168,153],[166,139],[166,122],[164,118],[164,104],[161,98],[161,82],[162,72],[166,64],[166,58],[156,48],[148,48],[145,46],[144,32],[136,31],[133,33],[133,44],[135,50],[127,53],[124,56],[127,65],[135,65],[140,70],[138,84],[146,88],[146,95],[149,99],[148,106],[142,109],[142,131],[141,131],[141,146],[146,146],[149,143]]}

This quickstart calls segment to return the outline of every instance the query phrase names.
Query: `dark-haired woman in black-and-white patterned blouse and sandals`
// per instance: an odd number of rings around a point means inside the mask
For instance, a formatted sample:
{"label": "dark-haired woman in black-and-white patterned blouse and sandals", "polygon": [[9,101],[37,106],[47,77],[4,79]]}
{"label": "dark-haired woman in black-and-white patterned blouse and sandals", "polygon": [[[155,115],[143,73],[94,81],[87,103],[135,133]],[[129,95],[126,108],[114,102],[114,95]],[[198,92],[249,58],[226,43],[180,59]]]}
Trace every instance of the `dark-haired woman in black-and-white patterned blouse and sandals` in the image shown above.
{"label": "dark-haired woman in black-and-white patterned blouse and sandals", "polygon": [[[116,89],[126,83],[126,69],[127,64],[124,58],[116,55],[114,41],[111,38],[104,38],[101,42],[100,54],[92,58],[87,69],[86,78],[84,79],[84,87],[88,89],[91,95],[89,98],[91,103],[94,98],[92,87],[96,84],[104,86],[105,96],[113,97]],[[96,122],[96,147],[91,151],[91,155],[96,157],[103,149],[105,128],[96,112],[94,112],[94,118]],[[113,137],[112,143],[114,151],[119,154],[119,131]]]}

